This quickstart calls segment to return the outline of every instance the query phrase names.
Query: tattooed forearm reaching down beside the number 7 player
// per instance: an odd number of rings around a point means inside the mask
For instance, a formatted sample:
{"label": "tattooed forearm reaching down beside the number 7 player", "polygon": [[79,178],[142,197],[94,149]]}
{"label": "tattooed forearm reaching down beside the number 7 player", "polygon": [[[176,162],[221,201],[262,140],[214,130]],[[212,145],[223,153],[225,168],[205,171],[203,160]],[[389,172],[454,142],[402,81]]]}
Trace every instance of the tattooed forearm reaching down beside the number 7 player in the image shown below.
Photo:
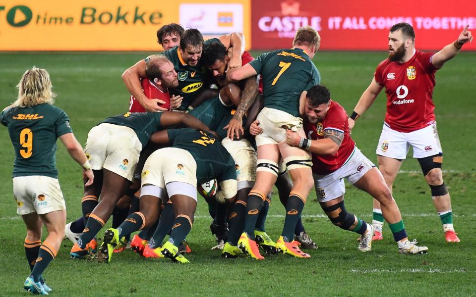
{"label": "tattooed forearm reaching down beside the number 7 player", "polygon": [[243,116],[248,111],[248,108],[251,106],[251,104],[253,104],[257,95],[258,79],[257,76],[252,76],[246,79],[244,83],[244,90],[241,95],[241,100],[237,107],[237,111],[235,112],[235,115],[233,115],[233,118],[230,120],[228,127],[225,127],[228,128],[227,137],[231,140],[234,139],[235,134],[237,138],[239,138],[240,135],[243,135]]}

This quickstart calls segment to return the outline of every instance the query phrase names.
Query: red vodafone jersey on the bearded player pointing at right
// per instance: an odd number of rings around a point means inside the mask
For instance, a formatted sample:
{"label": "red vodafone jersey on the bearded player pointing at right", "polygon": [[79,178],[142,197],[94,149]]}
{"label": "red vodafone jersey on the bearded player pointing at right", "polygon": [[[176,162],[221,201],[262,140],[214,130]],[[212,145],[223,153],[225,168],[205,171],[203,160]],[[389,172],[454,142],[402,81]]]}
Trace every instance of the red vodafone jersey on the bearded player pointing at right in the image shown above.
{"label": "red vodafone jersey on the bearded player pointing at right", "polygon": [[385,87],[387,112],[385,123],[399,132],[412,132],[435,121],[433,89],[437,68],[431,63],[434,53],[416,50],[405,62],[382,61],[375,81]]}

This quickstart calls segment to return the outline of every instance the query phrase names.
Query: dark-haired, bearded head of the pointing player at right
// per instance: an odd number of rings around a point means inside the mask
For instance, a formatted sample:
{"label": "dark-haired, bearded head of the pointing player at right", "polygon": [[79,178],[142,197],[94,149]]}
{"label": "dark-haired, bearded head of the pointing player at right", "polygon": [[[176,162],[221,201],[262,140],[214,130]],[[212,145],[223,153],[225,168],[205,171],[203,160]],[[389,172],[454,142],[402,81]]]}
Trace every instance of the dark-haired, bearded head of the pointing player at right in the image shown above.
{"label": "dark-haired, bearded head of the pointing player at right", "polygon": [[415,48],[415,31],[408,23],[398,23],[390,28],[388,34],[388,59],[400,61],[408,51]]}

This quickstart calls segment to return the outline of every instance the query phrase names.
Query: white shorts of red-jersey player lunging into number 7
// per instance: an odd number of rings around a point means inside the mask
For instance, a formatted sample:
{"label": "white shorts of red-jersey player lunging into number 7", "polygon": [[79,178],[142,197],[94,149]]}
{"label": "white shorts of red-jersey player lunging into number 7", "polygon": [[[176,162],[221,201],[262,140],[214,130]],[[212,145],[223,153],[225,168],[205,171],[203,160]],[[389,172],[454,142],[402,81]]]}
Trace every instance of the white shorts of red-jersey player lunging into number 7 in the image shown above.
{"label": "white shorts of red-jersey player lunging into number 7", "polygon": [[375,165],[363,155],[360,149],[355,147],[351,156],[341,168],[326,175],[312,174],[317,200],[326,202],[343,196],[346,193],[344,178],[351,184],[355,184],[373,167]]}

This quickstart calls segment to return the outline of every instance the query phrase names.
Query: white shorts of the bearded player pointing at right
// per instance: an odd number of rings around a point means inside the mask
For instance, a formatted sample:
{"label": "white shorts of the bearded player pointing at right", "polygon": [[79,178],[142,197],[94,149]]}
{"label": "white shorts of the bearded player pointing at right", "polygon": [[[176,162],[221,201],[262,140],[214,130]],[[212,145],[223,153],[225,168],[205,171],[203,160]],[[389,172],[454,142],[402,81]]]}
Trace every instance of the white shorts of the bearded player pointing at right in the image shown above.
{"label": "white shorts of the bearded player pointing at right", "polygon": [[378,155],[394,158],[405,159],[407,153],[413,148],[414,158],[424,158],[442,154],[438,131],[436,130],[436,122],[413,132],[398,132],[391,129],[386,123],[383,124],[382,134],[378,141],[375,152]]}

